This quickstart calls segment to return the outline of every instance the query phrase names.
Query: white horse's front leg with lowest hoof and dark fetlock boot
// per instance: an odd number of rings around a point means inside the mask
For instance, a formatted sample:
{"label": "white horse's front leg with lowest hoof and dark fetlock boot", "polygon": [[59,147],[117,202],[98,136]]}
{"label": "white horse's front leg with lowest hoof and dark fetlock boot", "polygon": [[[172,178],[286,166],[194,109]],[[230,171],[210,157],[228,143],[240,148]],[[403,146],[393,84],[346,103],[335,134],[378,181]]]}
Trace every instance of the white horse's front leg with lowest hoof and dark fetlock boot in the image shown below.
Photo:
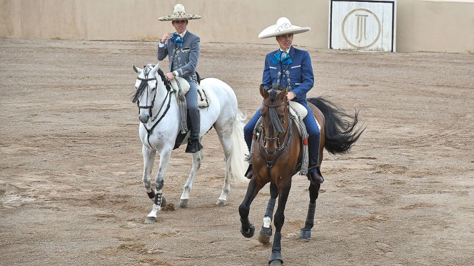
{"label": "white horse's front leg with lowest hoof and dark fetlock boot", "polygon": [[154,224],[157,221],[157,212],[161,210],[161,204],[166,205],[166,200],[163,195],[164,175],[166,168],[168,168],[169,160],[171,158],[171,150],[163,150],[159,155],[159,167],[157,177],[155,179],[155,189],[157,191],[153,202],[152,211],[148,214],[145,224]]}

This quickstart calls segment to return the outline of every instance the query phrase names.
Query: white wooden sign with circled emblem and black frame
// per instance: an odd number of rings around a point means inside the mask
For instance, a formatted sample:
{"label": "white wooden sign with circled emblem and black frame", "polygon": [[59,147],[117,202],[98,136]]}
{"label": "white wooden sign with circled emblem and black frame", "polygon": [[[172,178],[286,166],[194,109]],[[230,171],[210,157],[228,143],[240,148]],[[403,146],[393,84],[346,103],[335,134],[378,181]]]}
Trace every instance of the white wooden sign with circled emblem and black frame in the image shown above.
{"label": "white wooden sign with circled emblem and black frame", "polygon": [[330,49],[395,52],[396,0],[330,0]]}

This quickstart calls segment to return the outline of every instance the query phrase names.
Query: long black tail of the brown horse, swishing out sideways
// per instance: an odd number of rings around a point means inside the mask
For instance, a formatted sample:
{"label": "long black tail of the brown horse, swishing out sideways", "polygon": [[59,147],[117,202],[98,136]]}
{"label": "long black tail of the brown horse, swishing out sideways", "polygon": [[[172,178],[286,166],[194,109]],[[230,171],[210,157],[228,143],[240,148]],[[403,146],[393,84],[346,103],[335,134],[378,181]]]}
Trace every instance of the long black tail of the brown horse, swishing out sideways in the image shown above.
{"label": "long black tail of the brown horse, swishing out sideways", "polygon": [[349,115],[335,103],[322,97],[308,98],[324,115],[324,148],[331,153],[346,153],[364,132],[365,128],[356,129],[357,115]]}

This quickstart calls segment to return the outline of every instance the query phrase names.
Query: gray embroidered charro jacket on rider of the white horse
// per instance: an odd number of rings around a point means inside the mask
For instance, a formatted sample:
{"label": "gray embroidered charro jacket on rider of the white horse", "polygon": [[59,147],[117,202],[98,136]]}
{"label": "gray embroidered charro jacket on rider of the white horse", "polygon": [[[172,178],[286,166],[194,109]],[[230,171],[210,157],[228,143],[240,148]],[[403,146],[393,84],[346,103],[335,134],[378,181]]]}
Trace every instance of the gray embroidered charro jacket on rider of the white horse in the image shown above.
{"label": "gray embroidered charro jacket on rider of the white horse", "polygon": [[183,37],[183,46],[178,47],[169,39],[163,47],[158,46],[157,59],[168,56],[168,71],[177,71],[180,77],[197,80],[196,67],[199,59],[199,36],[187,31]]}

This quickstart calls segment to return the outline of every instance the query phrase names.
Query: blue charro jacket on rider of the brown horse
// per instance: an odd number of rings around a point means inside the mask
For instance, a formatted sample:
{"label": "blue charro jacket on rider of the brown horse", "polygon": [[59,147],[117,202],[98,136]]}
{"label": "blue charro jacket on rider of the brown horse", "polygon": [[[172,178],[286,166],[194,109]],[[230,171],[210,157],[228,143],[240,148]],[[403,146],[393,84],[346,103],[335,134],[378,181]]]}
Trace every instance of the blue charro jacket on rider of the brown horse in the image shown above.
{"label": "blue charro jacket on rider of the brown horse", "polygon": [[[306,94],[315,84],[313,66],[311,65],[310,54],[307,51],[290,47],[288,52],[291,63],[284,65],[281,62],[274,64],[270,58],[280,49],[270,52],[265,57],[265,67],[263,69],[262,84],[268,90],[272,85],[279,84],[285,88],[289,85],[288,91],[293,92],[296,97],[294,101],[306,100]],[[279,75],[278,75],[279,73]]]}

